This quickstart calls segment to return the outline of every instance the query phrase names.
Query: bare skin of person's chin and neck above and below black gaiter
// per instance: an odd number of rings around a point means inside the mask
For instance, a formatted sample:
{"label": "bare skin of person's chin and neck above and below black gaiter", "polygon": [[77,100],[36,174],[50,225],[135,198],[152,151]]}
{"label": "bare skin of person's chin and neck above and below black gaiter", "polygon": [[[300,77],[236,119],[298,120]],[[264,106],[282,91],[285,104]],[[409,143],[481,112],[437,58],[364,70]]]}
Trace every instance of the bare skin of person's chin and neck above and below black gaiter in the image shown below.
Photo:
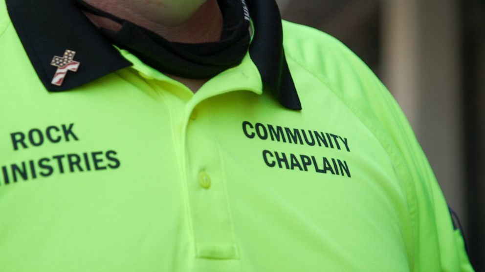
{"label": "bare skin of person's chin and neck above and below black gaiter", "polygon": [[[88,4],[149,29],[173,42],[202,43],[219,41],[222,13],[217,0],[85,0]],[[103,17],[86,13],[98,28],[113,31],[121,25]],[[192,92],[209,80],[180,78],[168,75]]]}

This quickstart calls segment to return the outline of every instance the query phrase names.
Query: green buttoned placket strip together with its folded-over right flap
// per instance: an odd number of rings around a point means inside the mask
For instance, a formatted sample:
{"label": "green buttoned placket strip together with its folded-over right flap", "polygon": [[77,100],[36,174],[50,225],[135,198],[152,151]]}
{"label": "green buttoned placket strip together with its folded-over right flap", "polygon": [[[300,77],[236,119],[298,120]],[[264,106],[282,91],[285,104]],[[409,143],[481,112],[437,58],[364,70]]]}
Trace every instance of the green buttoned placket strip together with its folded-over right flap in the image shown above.
{"label": "green buttoned placket strip together with its folded-over right flap", "polygon": [[262,93],[262,83],[247,56],[243,63],[204,84],[185,105],[182,133],[185,190],[197,258],[239,259],[234,235],[226,169],[211,126],[213,97],[234,91]]}

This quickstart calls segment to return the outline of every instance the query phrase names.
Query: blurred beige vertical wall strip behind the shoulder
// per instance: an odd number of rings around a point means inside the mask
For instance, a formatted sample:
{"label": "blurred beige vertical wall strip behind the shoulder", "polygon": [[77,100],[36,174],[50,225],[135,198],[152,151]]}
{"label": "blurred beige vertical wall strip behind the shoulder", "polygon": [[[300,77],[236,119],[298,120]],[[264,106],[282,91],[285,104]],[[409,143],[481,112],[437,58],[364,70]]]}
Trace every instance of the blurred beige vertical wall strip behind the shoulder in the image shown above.
{"label": "blurred beige vertical wall strip behind the shoulder", "polygon": [[382,80],[467,228],[457,0],[383,0]]}

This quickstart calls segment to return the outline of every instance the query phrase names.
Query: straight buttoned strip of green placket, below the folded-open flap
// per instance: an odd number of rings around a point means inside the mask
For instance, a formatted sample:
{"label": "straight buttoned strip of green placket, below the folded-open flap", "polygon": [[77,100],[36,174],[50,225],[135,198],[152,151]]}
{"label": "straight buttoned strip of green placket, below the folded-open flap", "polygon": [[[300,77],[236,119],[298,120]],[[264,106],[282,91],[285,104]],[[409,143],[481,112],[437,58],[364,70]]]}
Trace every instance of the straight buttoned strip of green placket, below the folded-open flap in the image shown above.
{"label": "straight buttoned strip of green placket, below the folded-open flap", "polygon": [[238,259],[220,150],[203,103],[186,107],[185,162],[189,213],[198,258]]}

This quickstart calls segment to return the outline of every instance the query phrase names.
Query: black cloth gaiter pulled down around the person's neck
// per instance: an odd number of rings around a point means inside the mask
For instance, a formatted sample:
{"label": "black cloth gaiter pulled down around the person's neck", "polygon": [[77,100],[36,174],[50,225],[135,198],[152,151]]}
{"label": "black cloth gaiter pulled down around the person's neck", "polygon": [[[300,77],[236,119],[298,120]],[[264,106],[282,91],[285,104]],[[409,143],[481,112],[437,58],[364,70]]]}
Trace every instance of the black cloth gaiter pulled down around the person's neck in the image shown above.
{"label": "black cloth gaiter pulled down around the person's neck", "polygon": [[76,0],[81,9],[121,24],[115,32],[101,29],[116,46],[129,50],[158,71],[183,78],[212,78],[241,63],[247,53],[250,34],[247,7],[241,0],[219,0],[223,16],[220,41],[206,43],[171,42],[158,34]]}

